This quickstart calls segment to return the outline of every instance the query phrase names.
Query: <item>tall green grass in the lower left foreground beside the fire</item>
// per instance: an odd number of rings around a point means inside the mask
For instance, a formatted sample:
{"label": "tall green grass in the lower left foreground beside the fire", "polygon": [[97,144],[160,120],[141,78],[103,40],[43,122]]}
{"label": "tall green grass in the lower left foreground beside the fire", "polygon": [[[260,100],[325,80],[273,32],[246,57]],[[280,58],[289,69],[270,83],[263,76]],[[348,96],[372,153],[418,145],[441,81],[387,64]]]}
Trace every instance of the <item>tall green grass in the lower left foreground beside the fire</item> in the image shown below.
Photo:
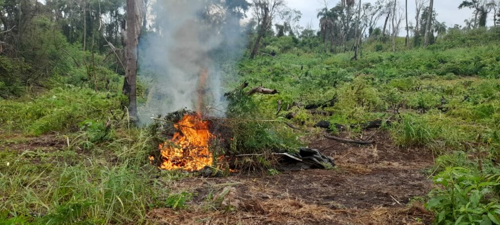
{"label": "tall green grass in the lower left foreground beside the fire", "polygon": [[145,131],[132,130],[131,134],[102,146],[112,154],[93,157],[67,154],[77,161],[73,165],[57,160],[59,157],[54,157],[57,153],[45,154],[30,163],[25,154],[3,152],[0,221],[145,223],[148,207],[161,203],[162,192],[166,190],[152,184],[156,170],[147,163],[151,137]]}

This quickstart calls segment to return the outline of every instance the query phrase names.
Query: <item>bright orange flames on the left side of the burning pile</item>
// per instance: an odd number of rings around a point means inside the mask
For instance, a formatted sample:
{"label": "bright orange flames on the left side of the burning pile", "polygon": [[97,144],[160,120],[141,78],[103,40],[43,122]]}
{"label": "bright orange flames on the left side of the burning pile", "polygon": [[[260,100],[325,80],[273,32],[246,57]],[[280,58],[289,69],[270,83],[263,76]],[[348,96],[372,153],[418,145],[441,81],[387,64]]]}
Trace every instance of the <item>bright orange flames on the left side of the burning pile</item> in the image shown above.
{"label": "bright orange flames on the left side of the burning pile", "polygon": [[212,166],[213,155],[208,141],[213,136],[208,130],[210,122],[202,120],[199,113],[185,114],[174,127],[179,129],[170,141],[159,145],[160,169],[200,170]]}

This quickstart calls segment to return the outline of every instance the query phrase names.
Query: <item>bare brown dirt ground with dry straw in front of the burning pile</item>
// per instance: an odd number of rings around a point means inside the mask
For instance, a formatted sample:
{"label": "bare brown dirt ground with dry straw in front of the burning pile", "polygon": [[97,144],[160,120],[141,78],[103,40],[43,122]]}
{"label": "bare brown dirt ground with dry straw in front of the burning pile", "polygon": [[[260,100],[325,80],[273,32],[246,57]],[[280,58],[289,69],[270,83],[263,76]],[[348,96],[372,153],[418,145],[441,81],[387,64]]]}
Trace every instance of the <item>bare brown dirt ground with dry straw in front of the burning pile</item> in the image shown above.
{"label": "bare brown dirt ground with dry straw in front of the burning pile", "polygon": [[[311,141],[309,147],[335,159],[335,169],[174,181],[168,185],[173,192],[195,193],[186,209],[152,209],[149,219],[160,224],[431,223],[432,214],[417,200],[432,185],[423,174],[432,166],[431,152],[395,147],[383,132],[373,137],[375,143],[370,146]],[[224,188],[234,192],[226,200],[237,210],[221,208],[220,201],[212,200]]]}

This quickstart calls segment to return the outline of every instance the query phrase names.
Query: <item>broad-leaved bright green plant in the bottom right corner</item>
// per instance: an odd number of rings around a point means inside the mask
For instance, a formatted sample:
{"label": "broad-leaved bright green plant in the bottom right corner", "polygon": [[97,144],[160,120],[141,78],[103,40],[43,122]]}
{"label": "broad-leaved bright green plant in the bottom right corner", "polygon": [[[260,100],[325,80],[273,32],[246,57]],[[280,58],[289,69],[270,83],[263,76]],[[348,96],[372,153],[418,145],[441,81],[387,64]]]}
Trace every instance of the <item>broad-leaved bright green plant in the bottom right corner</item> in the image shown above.
{"label": "broad-leaved bright green plant in the bottom right corner", "polygon": [[434,188],[425,206],[434,224],[500,224],[500,204],[488,199],[498,182],[471,174],[463,167],[448,167],[433,178]]}

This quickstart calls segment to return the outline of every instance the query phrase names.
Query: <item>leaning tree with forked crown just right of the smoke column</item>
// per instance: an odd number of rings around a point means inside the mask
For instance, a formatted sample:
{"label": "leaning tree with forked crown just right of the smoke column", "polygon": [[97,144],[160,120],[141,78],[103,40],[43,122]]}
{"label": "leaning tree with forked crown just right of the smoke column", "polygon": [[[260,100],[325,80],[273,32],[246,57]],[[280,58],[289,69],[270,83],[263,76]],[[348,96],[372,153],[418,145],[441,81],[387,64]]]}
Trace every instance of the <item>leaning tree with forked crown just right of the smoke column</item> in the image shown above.
{"label": "leaning tree with forked crown just right of the smoke column", "polygon": [[253,59],[255,54],[257,54],[260,39],[265,35],[265,31],[269,29],[274,16],[279,13],[285,4],[284,0],[252,0],[252,2],[253,13],[257,18],[259,28],[257,31],[257,39],[255,39],[255,43],[250,52],[250,59]]}

